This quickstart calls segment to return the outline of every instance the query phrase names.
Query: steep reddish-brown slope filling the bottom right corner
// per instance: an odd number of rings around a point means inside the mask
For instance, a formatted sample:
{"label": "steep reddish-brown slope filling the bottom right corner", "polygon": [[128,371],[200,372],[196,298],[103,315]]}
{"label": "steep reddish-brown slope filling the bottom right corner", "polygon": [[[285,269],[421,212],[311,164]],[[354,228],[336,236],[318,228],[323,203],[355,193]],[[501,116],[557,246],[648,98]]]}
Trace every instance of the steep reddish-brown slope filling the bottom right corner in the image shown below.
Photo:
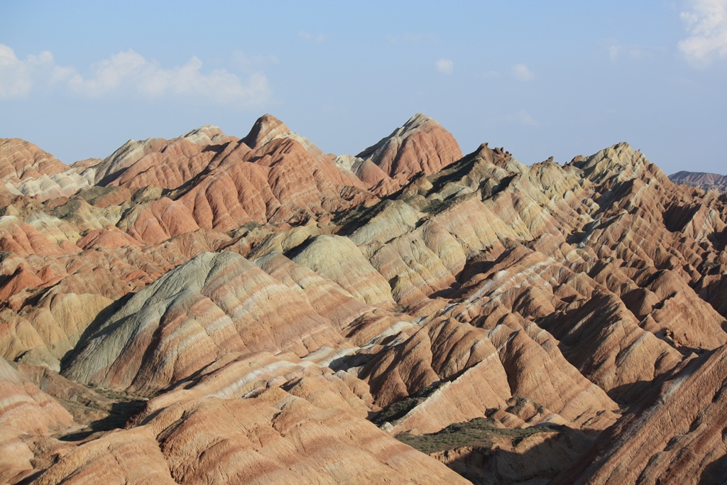
{"label": "steep reddish-brown slope filling the bottom right corner", "polygon": [[726,353],[723,346],[693,359],[553,483],[723,481]]}

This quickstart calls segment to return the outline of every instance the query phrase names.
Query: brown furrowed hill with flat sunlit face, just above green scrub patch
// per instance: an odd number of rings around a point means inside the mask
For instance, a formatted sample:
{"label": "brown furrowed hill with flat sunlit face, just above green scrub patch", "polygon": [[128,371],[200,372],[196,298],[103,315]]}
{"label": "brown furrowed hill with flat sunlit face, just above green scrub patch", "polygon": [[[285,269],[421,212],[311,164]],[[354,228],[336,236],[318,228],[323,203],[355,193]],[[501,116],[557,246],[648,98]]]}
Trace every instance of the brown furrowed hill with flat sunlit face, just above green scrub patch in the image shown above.
{"label": "brown furrowed hill with flat sunlit face, just above green scrub patch", "polygon": [[[411,409],[388,425],[394,433],[434,433],[493,409],[510,409],[515,396],[515,404],[526,398],[537,408],[521,422],[610,425],[618,406],[572,368],[554,343],[534,324],[523,329],[508,322],[485,332],[453,320],[433,321],[372,361],[361,376],[382,406],[413,396]],[[506,415],[501,419],[512,422]]]}

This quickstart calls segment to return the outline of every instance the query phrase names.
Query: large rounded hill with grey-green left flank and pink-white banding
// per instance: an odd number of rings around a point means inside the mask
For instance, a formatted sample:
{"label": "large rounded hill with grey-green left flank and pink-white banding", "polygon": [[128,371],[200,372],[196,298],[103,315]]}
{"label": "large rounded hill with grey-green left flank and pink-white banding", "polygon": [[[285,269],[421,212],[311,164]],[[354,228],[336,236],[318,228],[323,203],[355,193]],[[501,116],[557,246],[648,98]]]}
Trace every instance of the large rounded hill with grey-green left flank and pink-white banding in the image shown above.
{"label": "large rounded hill with grey-green left flank and pink-white banding", "polygon": [[150,394],[225,352],[302,356],[337,340],[332,323],[288,286],[238,254],[203,253],[134,294],[81,342],[65,375]]}

